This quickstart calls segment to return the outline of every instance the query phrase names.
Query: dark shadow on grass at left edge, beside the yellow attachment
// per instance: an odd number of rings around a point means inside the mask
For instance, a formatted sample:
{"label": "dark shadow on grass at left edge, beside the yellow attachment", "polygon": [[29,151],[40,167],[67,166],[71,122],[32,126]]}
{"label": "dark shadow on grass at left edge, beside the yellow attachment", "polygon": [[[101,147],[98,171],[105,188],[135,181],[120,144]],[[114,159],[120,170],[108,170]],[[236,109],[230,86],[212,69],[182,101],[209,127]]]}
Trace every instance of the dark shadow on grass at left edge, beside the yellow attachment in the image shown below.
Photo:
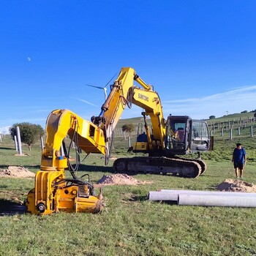
{"label": "dark shadow on grass at left edge, beside the yellow attachment", "polygon": [[25,214],[26,206],[11,200],[0,199],[0,216]]}

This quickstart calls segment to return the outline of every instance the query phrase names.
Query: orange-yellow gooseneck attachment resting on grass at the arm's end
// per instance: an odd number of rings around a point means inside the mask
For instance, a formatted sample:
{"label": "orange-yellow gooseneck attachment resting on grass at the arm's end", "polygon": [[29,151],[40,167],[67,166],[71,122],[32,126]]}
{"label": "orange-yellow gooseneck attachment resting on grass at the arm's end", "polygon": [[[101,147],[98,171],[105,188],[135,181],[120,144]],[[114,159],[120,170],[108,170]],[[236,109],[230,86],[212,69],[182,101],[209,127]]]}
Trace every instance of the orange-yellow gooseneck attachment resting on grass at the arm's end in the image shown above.
{"label": "orange-yellow gooseneck attachment resting on grass at the arm's end", "polygon": [[[100,210],[99,196],[79,197],[78,186],[55,184],[65,178],[66,157],[61,157],[61,143],[74,132],[78,133],[79,146],[87,154],[105,154],[105,137],[102,129],[80,118],[70,110],[54,110],[46,124],[46,142],[41,167],[35,177],[35,187],[27,197],[26,206],[32,214],[52,214],[59,211],[96,212]],[[85,187],[88,190],[88,187]]]}

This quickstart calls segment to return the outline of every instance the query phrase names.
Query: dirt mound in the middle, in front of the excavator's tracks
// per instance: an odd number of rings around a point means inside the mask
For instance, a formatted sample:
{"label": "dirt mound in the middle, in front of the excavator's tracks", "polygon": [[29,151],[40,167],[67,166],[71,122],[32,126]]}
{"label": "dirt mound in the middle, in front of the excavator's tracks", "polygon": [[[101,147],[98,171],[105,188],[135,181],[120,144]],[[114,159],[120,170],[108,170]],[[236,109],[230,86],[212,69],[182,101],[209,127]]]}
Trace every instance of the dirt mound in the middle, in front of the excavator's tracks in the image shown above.
{"label": "dirt mound in the middle, in front of the excavator's tracks", "polygon": [[138,179],[127,174],[116,173],[111,176],[104,175],[99,179],[98,184],[103,185],[140,185],[150,184],[148,181],[138,181]]}

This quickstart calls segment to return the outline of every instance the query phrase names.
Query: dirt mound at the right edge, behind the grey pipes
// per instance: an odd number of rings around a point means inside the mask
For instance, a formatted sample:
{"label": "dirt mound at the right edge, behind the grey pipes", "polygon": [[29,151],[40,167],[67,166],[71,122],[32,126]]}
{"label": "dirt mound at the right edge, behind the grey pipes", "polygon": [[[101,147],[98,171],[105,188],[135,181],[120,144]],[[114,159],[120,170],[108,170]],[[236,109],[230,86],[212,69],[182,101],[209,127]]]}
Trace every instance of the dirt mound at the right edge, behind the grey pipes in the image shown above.
{"label": "dirt mound at the right edge, behind the grey pipes", "polygon": [[254,184],[236,179],[225,179],[225,181],[217,186],[217,189],[231,192],[256,192]]}

